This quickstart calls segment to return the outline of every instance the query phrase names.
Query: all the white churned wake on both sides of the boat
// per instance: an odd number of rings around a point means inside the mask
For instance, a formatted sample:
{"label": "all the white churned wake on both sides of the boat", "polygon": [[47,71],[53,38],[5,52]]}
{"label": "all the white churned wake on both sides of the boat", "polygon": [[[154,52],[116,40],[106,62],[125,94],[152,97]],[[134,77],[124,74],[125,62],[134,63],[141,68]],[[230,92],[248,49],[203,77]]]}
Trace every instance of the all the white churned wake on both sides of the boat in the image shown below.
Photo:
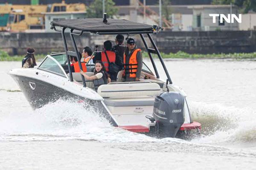
{"label": "all the white churned wake on both sides of the boat", "polygon": [[[201,144],[256,142],[256,113],[250,109],[227,108],[192,102],[190,111],[202,124]],[[58,100],[35,111],[9,113],[0,119],[0,141],[85,140],[99,142],[184,142],[155,139],[112,127],[93,108]],[[248,120],[248,118],[250,119]]]}

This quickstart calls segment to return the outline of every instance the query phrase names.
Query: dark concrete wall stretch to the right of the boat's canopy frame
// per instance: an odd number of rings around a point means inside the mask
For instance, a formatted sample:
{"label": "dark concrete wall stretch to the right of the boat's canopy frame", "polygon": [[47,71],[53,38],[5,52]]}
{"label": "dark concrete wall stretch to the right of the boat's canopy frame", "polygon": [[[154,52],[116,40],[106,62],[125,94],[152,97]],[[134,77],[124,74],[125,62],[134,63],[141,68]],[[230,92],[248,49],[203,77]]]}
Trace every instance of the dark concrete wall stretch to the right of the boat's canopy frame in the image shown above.
{"label": "dark concrete wall stretch to the right of the boat's canopy frame", "polygon": [[163,52],[212,54],[256,51],[256,31],[169,31],[157,34]]}

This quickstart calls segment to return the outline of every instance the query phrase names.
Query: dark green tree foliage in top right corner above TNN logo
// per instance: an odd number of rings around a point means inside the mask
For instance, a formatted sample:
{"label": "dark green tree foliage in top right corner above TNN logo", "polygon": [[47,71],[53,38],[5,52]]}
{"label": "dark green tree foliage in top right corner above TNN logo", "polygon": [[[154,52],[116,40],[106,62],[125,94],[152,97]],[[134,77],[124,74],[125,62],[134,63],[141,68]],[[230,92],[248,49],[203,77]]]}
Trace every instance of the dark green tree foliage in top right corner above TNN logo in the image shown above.
{"label": "dark green tree foliage in top right corner above TNN logo", "polygon": [[250,10],[256,11],[256,0],[213,0],[212,4],[230,5],[230,3],[238,6],[243,13],[248,13]]}

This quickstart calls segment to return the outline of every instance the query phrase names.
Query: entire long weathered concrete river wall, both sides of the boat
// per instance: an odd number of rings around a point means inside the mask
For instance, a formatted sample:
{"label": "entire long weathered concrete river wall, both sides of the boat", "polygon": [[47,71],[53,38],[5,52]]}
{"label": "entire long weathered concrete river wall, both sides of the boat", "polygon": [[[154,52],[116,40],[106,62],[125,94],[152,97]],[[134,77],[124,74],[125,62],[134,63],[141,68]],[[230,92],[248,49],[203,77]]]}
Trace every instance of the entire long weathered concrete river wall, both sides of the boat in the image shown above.
{"label": "entire long weathered concrete river wall, both sides of the boat", "polygon": [[[72,47],[70,36],[67,42]],[[85,46],[94,49],[95,45],[102,49],[105,40],[114,43],[115,35],[98,36],[86,34],[77,37],[79,51]],[[135,38],[139,47],[143,47],[139,36]],[[188,53],[234,53],[256,51],[256,31],[162,31],[153,38],[160,51],[169,53],[185,51]],[[125,43],[126,44],[126,43]],[[149,46],[151,46],[148,43]],[[37,54],[64,51],[60,33],[0,33],[0,49],[9,54],[25,54],[27,47],[35,48]],[[71,50],[73,48],[70,48]]]}

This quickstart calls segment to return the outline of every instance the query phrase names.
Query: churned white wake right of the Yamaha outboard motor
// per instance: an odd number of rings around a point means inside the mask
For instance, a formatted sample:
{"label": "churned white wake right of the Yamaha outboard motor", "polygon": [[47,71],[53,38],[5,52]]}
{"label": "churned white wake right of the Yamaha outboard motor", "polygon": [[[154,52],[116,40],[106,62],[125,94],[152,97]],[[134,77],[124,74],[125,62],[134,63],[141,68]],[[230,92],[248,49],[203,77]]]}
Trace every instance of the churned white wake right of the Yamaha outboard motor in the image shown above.
{"label": "churned white wake right of the Yamaha outboard motor", "polygon": [[251,108],[224,107],[192,102],[190,111],[202,124],[200,143],[239,144],[256,143],[256,112]]}

